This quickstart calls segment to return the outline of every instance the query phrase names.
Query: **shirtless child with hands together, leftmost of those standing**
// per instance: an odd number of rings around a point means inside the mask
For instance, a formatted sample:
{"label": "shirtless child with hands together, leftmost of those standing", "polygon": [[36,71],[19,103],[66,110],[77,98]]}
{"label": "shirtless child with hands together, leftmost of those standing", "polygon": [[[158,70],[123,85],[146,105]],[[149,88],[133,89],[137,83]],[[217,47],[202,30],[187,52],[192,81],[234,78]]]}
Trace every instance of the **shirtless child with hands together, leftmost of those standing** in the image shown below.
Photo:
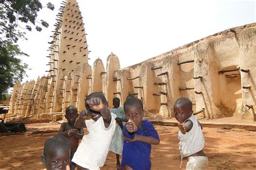
{"label": "shirtless child with hands together, leftmost of those standing", "polygon": [[[72,160],[73,155],[77,151],[77,147],[79,144],[79,139],[83,139],[84,130],[83,128],[76,128],[75,122],[78,117],[77,108],[75,106],[69,106],[65,111],[65,118],[68,120],[68,123],[64,122],[60,125],[58,134],[63,135],[64,137],[69,139],[71,145],[71,156]],[[71,162],[70,169],[74,170],[76,168],[76,164]]]}

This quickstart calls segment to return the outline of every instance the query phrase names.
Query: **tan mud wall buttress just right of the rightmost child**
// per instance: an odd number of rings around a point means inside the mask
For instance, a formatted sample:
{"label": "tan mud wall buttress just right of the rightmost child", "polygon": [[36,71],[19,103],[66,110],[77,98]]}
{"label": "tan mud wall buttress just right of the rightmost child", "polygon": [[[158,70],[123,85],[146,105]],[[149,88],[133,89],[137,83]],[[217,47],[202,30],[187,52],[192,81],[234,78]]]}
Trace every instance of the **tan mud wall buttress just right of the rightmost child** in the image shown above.
{"label": "tan mud wall buttress just right of the rightmost child", "polygon": [[214,47],[211,42],[200,42],[194,50],[194,79],[196,110],[205,108],[201,116],[207,118],[221,118],[223,114],[218,108],[220,104],[220,90],[218,77],[218,64],[214,55]]}

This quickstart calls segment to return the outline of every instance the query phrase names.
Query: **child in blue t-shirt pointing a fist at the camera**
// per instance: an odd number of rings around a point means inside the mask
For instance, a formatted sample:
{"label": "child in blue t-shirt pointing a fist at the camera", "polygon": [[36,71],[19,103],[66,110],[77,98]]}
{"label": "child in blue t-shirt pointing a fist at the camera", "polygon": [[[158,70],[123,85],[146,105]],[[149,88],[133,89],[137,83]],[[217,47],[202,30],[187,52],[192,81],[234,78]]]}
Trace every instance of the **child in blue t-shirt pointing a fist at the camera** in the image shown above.
{"label": "child in blue t-shirt pointing a fist at the camera", "polygon": [[138,98],[128,98],[124,103],[125,116],[129,121],[123,128],[123,169],[150,169],[151,145],[158,145],[160,139],[149,120],[143,119],[143,103]]}

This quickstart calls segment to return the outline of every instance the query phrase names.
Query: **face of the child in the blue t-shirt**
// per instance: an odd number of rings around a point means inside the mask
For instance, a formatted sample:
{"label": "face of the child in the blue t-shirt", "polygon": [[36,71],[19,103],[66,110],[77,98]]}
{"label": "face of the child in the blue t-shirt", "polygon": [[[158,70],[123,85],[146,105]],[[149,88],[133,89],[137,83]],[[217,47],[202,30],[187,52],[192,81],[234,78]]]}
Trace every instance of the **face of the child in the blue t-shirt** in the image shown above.
{"label": "face of the child in the blue t-shirt", "polygon": [[125,116],[127,119],[132,119],[136,126],[141,125],[143,119],[143,109],[138,104],[126,107]]}

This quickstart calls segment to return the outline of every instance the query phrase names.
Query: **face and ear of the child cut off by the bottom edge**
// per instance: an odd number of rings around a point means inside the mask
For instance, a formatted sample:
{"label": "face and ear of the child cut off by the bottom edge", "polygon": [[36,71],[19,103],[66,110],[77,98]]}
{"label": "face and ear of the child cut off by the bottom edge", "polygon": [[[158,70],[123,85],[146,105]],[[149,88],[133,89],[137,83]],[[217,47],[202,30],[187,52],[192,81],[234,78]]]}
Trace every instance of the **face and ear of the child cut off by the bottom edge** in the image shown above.
{"label": "face and ear of the child cut off by the bottom edge", "polygon": [[[70,165],[70,150],[57,148],[49,151],[46,157],[41,156],[41,160],[46,165],[47,170],[66,169]],[[43,158],[42,158],[43,157]]]}

